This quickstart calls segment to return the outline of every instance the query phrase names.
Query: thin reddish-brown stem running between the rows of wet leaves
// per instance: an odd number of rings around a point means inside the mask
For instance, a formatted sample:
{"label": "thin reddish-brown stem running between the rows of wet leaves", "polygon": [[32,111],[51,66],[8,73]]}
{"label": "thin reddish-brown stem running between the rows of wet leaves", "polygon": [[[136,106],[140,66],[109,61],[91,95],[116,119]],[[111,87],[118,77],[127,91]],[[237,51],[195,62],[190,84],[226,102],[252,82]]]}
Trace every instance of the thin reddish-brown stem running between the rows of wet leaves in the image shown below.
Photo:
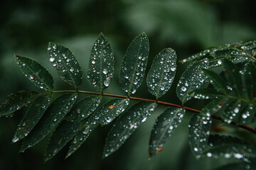
{"label": "thin reddish-brown stem running between the rows of wet leaves", "polygon": [[[155,100],[151,100],[151,99],[147,99],[147,98],[137,98],[137,97],[132,97],[132,96],[122,96],[122,95],[116,95],[116,94],[104,94],[104,93],[98,93],[98,92],[92,92],[92,91],[74,91],[74,90],[66,90],[66,91],[52,91],[52,93],[80,93],[80,94],[95,94],[95,95],[101,95],[101,96],[110,96],[110,97],[115,97],[115,98],[129,98],[131,100],[134,101],[149,101],[149,102],[153,102],[153,103],[157,103],[159,105],[164,105],[164,106],[172,106],[175,108],[184,108],[186,111],[191,111],[193,113],[201,113],[201,111],[196,110],[194,108],[188,108],[186,106],[181,106],[181,105],[176,105],[174,103],[167,103],[164,101],[155,101]],[[211,115],[211,118],[215,119],[215,120],[221,120],[223,121],[223,118],[221,118],[218,115]],[[245,130],[249,130],[250,132],[253,132],[256,134],[256,129],[255,128],[251,128],[247,125],[238,125],[238,123],[236,123],[235,121],[231,121],[232,125],[236,125],[242,129]]]}

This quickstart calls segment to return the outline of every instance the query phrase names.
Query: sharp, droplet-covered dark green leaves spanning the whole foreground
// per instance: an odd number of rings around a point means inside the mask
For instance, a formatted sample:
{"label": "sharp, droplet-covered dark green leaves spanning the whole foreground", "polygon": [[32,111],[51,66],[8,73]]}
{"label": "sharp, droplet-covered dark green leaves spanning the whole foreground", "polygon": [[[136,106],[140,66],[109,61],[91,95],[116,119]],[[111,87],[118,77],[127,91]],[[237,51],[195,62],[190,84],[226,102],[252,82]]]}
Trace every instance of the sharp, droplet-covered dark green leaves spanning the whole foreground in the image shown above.
{"label": "sharp, droplet-covered dark green leaves spanning the whole foreground", "polygon": [[[189,123],[188,140],[196,158],[235,157],[243,162],[223,168],[247,169],[248,166],[253,168],[256,149],[249,142],[237,137],[210,133],[214,132],[211,131],[213,119],[221,120],[222,125],[238,125],[256,133],[255,129],[248,126],[255,125],[253,123],[256,122],[255,44],[255,41],[252,41],[210,47],[182,60],[182,63],[187,61],[193,63],[183,72],[176,86],[176,95],[181,101],[179,106],[159,101],[159,98],[171,88],[176,74],[176,52],[171,48],[165,48],[156,55],[146,77],[148,90],[156,96],[155,100],[131,96],[144,80],[149,55],[149,40],[145,33],[134,38],[122,61],[119,82],[127,96],[103,93],[113,79],[114,55],[110,42],[102,33],[92,46],[87,68],[88,80],[100,93],[78,89],[82,82],[82,69],[78,60],[67,47],[50,42],[48,46],[50,62],[53,63],[60,77],[68,84],[72,84],[75,90],[53,91],[53,79],[41,64],[28,57],[16,55],[16,64],[23,74],[33,84],[46,91],[39,94],[18,91],[9,95],[0,107],[0,116],[11,115],[23,106],[27,106],[13,142],[23,139],[21,147],[23,152],[53,132],[46,147],[45,161],[47,161],[71,140],[66,156],[69,157],[98,125],[111,125],[112,121],[115,121],[108,132],[103,151],[103,157],[108,157],[147,120],[157,105],[172,106],[159,115],[151,130],[150,157],[161,152],[164,144],[181,124],[185,113],[188,115],[194,112],[196,114],[191,117]],[[248,50],[252,50],[252,55],[247,53]],[[216,69],[218,72],[213,71],[213,67],[219,67]],[[77,102],[78,94],[97,96],[87,96]],[[114,99],[100,106],[104,96]],[[194,100],[193,98],[204,101],[207,99],[206,106],[203,106],[201,111],[184,106],[184,103]],[[132,100],[139,102],[132,105],[130,102]],[[129,109],[125,111],[129,105]]]}

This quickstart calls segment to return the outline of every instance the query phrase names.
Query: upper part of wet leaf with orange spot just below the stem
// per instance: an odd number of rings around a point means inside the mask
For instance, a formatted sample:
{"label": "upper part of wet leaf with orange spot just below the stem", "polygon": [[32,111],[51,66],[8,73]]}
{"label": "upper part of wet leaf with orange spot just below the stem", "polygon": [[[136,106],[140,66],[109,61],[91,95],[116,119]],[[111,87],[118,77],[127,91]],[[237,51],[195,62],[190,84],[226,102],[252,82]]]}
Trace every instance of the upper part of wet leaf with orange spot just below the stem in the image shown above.
{"label": "upper part of wet leaf with orange spot just below the stem", "polygon": [[95,113],[89,118],[88,122],[93,125],[100,123],[107,125],[114,120],[119,114],[123,113],[129,105],[129,98],[115,98],[97,108]]}

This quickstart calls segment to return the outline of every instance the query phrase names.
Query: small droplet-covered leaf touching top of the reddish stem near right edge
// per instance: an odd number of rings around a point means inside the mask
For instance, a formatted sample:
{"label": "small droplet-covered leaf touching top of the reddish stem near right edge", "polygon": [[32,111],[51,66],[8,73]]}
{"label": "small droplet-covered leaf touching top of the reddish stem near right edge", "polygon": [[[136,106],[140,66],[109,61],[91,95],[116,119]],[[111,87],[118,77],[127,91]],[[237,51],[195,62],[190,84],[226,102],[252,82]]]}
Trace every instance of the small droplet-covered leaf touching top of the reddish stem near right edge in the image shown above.
{"label": "small droplet-covered leaf touching top of the reddish stem near right edge", "polygon": [[226,123],[231,123],[232,120],[238,119],[238,113],[240,112],[241,107],[241,101],[235,101],[231,102],[228,107],[225,109],[225,112],[223,113],[223,118]]}

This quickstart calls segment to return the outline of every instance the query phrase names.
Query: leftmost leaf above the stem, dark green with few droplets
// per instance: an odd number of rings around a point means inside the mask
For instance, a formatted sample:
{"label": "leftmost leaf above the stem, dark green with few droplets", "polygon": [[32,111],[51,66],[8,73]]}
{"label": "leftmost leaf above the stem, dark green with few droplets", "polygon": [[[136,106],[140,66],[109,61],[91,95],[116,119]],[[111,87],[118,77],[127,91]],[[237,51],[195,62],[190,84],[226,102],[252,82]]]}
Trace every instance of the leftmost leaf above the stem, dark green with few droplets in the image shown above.
{"label": "leftmost leaf above the stem, dark green with few droplets", "polygon": [[41,64],[28,57],[14,55],[21,72],[40,89],[53,90],[53,77]]}

